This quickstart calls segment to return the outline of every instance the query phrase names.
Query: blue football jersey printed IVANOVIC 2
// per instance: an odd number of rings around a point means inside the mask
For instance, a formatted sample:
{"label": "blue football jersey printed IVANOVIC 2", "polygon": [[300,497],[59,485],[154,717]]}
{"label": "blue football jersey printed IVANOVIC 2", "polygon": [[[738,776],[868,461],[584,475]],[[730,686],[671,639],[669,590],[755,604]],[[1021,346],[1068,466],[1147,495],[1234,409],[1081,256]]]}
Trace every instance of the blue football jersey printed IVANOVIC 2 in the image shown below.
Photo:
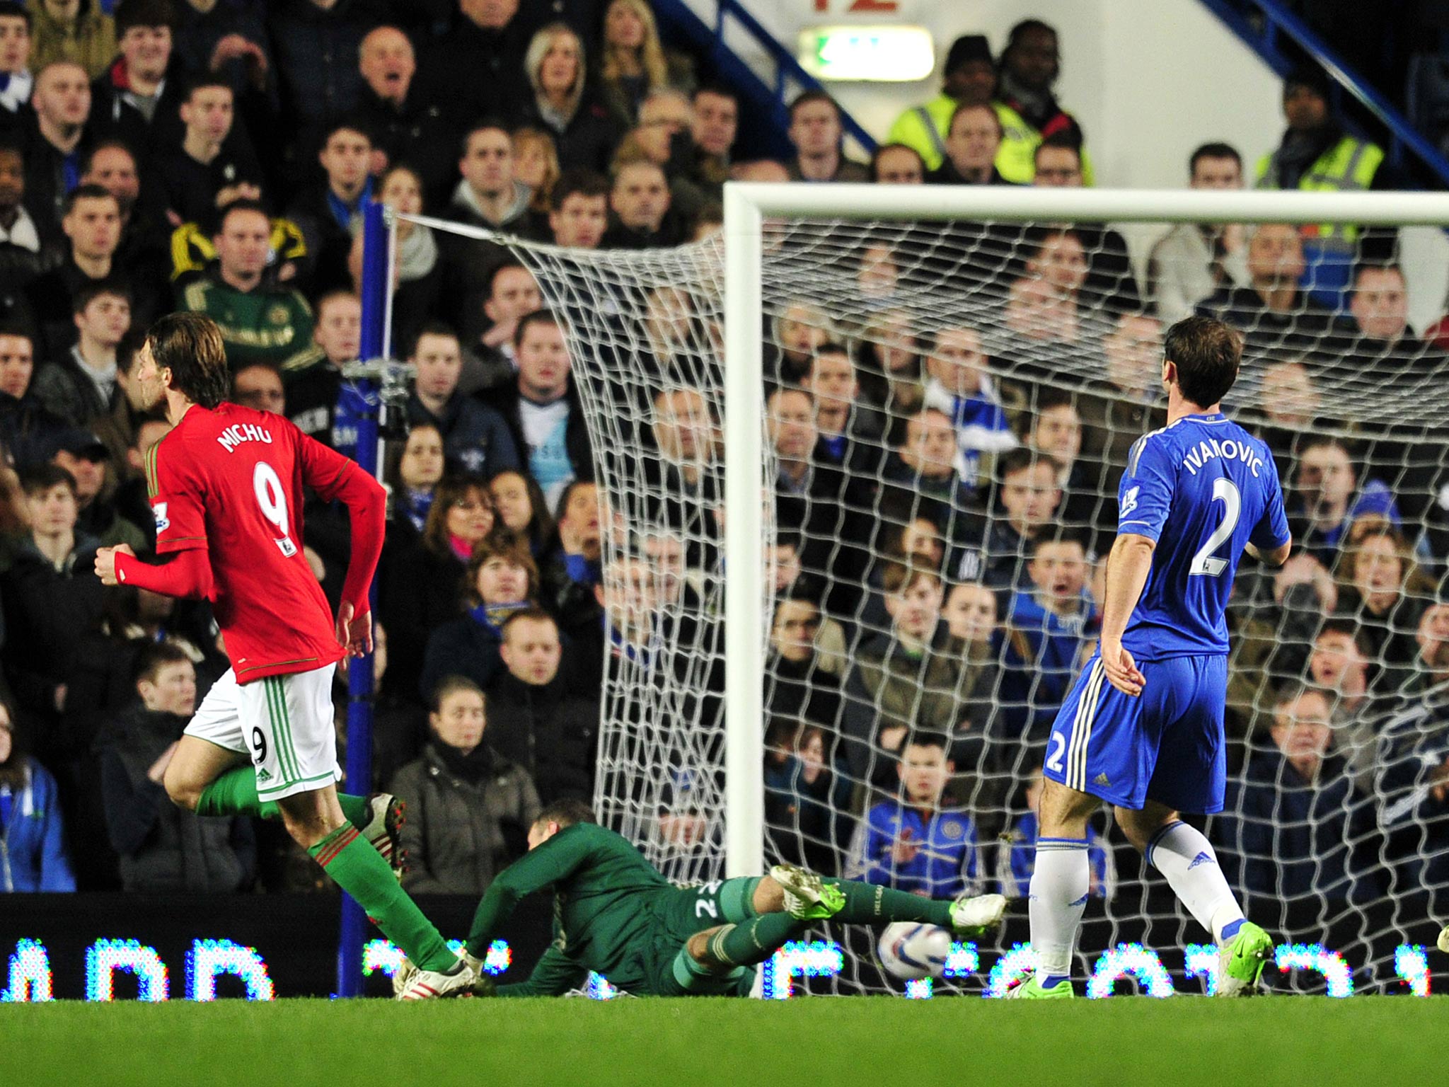
{"label": "blue football jersey printed IVANOVIC 2", "polygon": [[1249,542],[1288,542],[1268,446],[1222,413],[1137,439],[1117,490],[1117,530],[1155,539],[1148,584],[1122,645],[1139,661],[1226,654],[1224,609]]}

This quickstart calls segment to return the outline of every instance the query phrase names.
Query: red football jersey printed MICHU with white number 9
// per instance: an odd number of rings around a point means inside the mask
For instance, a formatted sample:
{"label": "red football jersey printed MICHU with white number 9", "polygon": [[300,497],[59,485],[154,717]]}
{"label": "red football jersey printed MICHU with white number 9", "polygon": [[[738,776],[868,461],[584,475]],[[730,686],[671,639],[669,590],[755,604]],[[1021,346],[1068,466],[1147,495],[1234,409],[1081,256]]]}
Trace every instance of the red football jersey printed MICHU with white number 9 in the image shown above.
{"label": "red football jersey printed MICHU with white number 9", "polygon": [[156,554],[204,548],[238,683],[342,659],[301,551],[301,488],[332,499],[352,461],[271,412],[193,406],[146,458]]}

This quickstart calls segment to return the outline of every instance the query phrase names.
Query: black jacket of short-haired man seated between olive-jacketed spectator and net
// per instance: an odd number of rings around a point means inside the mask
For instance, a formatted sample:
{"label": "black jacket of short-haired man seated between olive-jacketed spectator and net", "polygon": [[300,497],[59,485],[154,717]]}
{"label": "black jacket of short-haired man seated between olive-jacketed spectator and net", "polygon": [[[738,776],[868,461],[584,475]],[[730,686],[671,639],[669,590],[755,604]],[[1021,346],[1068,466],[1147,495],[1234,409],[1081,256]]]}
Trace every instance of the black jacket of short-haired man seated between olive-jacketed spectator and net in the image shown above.
{"label": "black jacket of short-haired man seated between olive-jacketed spectator and net", "polygon": [[539,800],[593,800],[598,701],[569,694],[562,675],[535,686],[507,668],[487,694],[488,745],[532,775]]}

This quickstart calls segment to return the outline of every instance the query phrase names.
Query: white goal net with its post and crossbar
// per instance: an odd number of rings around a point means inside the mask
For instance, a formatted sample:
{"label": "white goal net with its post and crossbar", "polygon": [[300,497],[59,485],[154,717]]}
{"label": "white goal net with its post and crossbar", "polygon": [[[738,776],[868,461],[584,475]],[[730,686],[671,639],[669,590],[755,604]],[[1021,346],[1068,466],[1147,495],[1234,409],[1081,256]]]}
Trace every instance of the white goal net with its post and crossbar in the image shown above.
{"label": "white goal net with its post and crossbar", "polygon": [[[1449,367],[1421,333],[1449,203],[732,190],[729,261],[724,238],[509,241],[562,316],[604,503],[601,820],[680,881],[787,859],[1000,890],[1019,915],[936,991],[1004,984],[1029,962],[1033,804],[1095,645],[1117,483],[1165,422],[1166,323],[1198,310],[1245,336],[1224,410],[1271,448],[1295,548],[1240,565],[1226,809],[1194,822],[1281,942],[1272,984],[1427,984],[1414,948],[1449,912]],[[1372,255],[1348,294],[1304,261],[1324,232]],[[1211,936],[1108,812],[1091,836],[1078,975],[1203,991]],[[797,990],[903,988],[864,930],[811,939],[845,954]]]}

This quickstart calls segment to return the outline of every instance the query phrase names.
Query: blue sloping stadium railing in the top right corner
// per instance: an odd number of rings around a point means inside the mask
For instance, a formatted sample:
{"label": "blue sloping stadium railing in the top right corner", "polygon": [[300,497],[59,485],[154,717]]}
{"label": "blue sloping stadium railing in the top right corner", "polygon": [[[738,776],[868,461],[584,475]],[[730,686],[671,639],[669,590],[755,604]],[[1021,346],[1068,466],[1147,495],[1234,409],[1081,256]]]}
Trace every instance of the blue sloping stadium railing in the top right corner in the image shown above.
{"label": "blue sloping stadium railing in the top right corner", "polygon": [[[1297,67],[1300,58],[1307,55],[1327,72],[1332,81],[1329,106],[1345,129],[1361,139],[1381,143],[1390,165],[1395,170],[1408,172],[1420,183],[1433,181],[1437,187],[1449,188],[1449,159],[1281,0],[1201,0],[1201,3],[1279,75],[1287,75]],[[1345,94],[1359,106],[1364,119],[1355,117],[1346,109]],[[1419,170],[1408,170],[1410,162],[1417,164]]]}

